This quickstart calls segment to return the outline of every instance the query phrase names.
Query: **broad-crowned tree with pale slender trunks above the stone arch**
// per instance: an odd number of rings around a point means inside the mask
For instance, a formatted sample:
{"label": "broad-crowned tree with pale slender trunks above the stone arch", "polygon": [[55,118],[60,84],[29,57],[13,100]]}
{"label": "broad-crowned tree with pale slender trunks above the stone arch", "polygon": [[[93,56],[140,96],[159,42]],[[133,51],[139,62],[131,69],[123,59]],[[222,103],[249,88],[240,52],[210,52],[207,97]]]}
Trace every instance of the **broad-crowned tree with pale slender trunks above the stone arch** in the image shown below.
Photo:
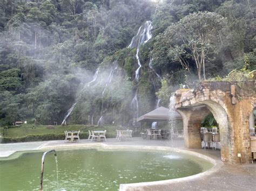
{"label": "broad-crowned tree with pale slender trunks above the stone arch", "polygon": [[165,31],[164,38],[170,43],[170,56],[184,68],[188,67],[187,58],[193,59],[199,80],[201,67],[206,80],[205,63],[219,52],[226,26],[227,20],[213,12],[197,12],[184,17]]}

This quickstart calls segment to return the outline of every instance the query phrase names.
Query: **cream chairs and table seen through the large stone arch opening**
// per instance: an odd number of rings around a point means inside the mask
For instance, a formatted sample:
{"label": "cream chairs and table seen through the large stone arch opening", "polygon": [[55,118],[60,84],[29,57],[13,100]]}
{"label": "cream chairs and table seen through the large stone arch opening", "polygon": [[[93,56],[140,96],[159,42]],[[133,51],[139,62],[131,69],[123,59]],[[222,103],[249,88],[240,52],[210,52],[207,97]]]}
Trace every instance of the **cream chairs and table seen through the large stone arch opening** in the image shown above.
{"label": "cream chairs and table seen through the large stone arch opening", "polygon": [[201,128],[201,142],[202,147],[205,149],[212,148],[216,150],[220,145],[220,133],[218,133],[218,128]]}

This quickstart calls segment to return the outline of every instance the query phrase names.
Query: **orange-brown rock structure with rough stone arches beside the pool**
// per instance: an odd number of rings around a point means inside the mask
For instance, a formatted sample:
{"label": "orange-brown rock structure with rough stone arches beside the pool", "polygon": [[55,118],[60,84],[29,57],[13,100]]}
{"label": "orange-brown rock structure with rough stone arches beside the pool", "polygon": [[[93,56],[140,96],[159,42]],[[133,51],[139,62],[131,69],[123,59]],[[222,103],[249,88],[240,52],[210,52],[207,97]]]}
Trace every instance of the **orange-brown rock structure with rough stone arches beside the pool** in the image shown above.
{"label": "orange-brown rock structure with rough stone arches beside the pool", "polygon": [[255,84],[201,82],[195,89],[176,91],[175,107],[183,117],[185,146],[201,148],[201,121],[212,112],[220,129],[221,159],[232,164],[250,163],[249,118],[256,107]]}

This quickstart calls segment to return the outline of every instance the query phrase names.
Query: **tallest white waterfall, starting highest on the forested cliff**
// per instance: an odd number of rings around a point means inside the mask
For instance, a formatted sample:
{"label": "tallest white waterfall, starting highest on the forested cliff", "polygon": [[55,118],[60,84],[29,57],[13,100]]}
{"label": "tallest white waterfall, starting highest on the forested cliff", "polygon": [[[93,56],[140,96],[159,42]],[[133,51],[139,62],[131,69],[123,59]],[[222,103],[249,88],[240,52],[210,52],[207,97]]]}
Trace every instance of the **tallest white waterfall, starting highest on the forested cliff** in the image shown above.
{"label": "tallest white waterfall, starting highest on the forested cliff", "polygon": [[[143,45],[147,43],[152,38],[151,30],[152,30],[151,21],[146,21],[145,24],[139,27],[139,30],[132,38],[131,44],[128,46],[129,48],[137,48],[136,51],[136,59],[138,61],[138,68],[135,71],[135,79],[137,82],[139,82],[139,70],[142,67],[140,61],[139,61],[139,47],[140,45]],[[134,118],[138,118],[138,112],[139,112],[139,105],[138,105],[138,87],[136,89],[136,93],[132,99],[131,106],[133,109],[136,110]]]}

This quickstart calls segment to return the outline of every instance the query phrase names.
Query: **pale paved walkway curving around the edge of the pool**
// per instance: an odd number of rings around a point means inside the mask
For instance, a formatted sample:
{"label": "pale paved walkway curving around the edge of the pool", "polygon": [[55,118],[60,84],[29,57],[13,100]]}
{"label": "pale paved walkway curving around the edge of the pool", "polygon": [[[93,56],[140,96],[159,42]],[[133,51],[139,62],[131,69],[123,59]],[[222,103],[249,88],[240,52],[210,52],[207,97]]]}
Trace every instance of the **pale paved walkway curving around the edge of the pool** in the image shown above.
{"label": "pale paved walkway curving around the edge of the pool", "polygon": [[[213,158],[219,168],[215,172],[206,173],[197,178],[173,181],[161,185],[150,185],[140,187],[128,187],[127,190],[255,190],[256,188],[256,164],[229,165],[223,164],[220,160],[220,151],[204,149],[186,149],[182,139],[169,140],[146,140],[134,138],[132,141],[117,142],[116,139],[107,139],[103,142],[106,145],[140,145],[140,146],[166,146],[177,147],[189,151],[198,152]],[[11,143],[0,144],[0,157],[7,157],[16,151],[38,150],[58,147],[79,147],[87,144],[98,144],[88,140],[81,140],[79,143],[64,143],[63,140],[46,142]]]}

